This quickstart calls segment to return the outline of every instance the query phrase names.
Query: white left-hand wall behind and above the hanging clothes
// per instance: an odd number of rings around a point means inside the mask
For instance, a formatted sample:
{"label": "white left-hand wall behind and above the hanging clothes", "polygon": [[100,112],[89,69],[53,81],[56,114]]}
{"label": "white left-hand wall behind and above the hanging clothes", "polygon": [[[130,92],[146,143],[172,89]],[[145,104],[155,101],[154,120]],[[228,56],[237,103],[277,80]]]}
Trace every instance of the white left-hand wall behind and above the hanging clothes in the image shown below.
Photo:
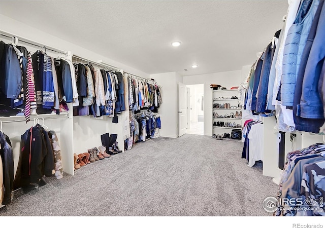
{"label": "white left-hand wall behind and above the hanging clothes", "polygon": [[[24,37],[30,41],[34,41],[51,48],[57,48],[63,51],[71,51],[73,54],[80,57],[90,59],[92,61],[103,60],[105,63],[113,65],[119,69],[123,69],[126,72],[138,75],[140,77],[148,78],[149,74],[142,72],[133,67],[127,66],[123,63],[108,59],[105,56],[96,54],[87,47],[77,46],[72,42],[61,40],[60,37],[55,37],[48,33],[45,33],[37,28],[28,26],[12,18],[6,17],[0,14],[0,30],[12,33],[17,36]],[[25,46],[30,52],[35,52],[37,47],[27,45],[25,43],[18,43],[19,45]],[[52,57],[57,57],[59,54],[51,53],[47,50],[47,53]],[[168,88],[168,86],[166,86]],[[65,162],[73,163],[73,153],[80,154],[87,151],[88,148],[101,145],[101,134],[106,132],[118,134],[117,142],[120,150],[123,150],[123,116],[118,117],[118,124],[112,123],[112,118],[104,117],[103,120],[94,120],[90,117],[72,117],[72,106],[70,108],[68,120],[57,119],[57,120],[46,120],[46,125],[50,129],[54,129],[58,133],[58,139],[61,144],[61,153],[67,155],[67,158],[62,158],[63,170],[73,174],[73,166],[69,170],[65,169],[68,165],[64,165]],[[31,123],[32,124],[32,123]],[[10,125],[10,128],[8,128]],[[68,126],[69,125],[69,126]],[[72,126],[73,125],[73,126]],[[30,123],[24,124],[19,123],[8,123],[4,124],[4,130],[9,137],[15,141],[14,146],[14,159],[15,166],[19,157],[19,136],[23,134],[26,129],[30,127]],[[69,128],[69,130],[67,129]],[[5,132],[5,131],[4,131]]]}

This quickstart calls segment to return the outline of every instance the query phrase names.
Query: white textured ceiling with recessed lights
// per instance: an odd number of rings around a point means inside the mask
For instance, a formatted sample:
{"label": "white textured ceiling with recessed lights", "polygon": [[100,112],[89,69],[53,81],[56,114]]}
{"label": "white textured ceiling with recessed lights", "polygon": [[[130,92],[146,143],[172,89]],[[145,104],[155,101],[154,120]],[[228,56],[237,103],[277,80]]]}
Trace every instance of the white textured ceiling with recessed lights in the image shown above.
{"label": "white textured ceiling with recessed lights", "polygon": [[[285,0],[0,1],[0,14],[146,73],[193,75],[252,64],[287,7]],[[182,45],[172,47],[175,40]]]}

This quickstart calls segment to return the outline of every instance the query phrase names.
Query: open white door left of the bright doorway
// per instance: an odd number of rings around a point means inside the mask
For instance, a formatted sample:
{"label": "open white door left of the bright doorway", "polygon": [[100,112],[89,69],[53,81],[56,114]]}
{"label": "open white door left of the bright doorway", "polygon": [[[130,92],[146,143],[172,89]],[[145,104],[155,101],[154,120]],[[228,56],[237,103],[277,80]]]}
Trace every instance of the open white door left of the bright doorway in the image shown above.
{"label": "open white door left of the bright doorway", "polygon": [[186,133],[186,86],[178,84],[178,137]]}

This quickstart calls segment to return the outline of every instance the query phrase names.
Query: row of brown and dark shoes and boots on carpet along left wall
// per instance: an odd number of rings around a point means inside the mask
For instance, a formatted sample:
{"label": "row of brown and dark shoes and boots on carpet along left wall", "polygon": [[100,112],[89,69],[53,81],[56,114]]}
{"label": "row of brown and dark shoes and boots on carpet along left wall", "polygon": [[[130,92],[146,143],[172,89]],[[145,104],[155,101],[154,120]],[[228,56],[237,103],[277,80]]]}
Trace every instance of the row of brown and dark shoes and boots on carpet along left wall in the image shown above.
{"label": "row of brown and dark shoes and boots on carpet along left wall", "polygon": [[[117,144],[117,142],[115,142]],[[74,169],[80,169],[81,166],[85,166],[87,164],[103,160],[105,158],[111,157],[111,155],[115,155],[121,153],[122,150],[119,150],[117,145],[114,143],[112,147],[109,148],[108,152],[106,153],[106,146],[100,145],[99,147],[93,147],[88,149],[88,152],[81,153],[77,155],[74,154]]]}

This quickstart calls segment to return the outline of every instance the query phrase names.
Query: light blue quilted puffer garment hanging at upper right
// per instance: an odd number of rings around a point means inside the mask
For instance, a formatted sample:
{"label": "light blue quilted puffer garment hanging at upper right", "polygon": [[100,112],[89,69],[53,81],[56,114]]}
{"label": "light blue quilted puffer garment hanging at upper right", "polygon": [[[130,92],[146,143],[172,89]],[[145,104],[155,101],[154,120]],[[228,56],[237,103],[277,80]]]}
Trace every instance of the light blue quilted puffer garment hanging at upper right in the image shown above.
{"label": "light blue quilted puffer garment hanging at upper right", "polygon": [[318,4],[319,0],[304,0],[294,24],[288,30],[282,62],[280,89],[282,105],[293,106],[300,60]]}

